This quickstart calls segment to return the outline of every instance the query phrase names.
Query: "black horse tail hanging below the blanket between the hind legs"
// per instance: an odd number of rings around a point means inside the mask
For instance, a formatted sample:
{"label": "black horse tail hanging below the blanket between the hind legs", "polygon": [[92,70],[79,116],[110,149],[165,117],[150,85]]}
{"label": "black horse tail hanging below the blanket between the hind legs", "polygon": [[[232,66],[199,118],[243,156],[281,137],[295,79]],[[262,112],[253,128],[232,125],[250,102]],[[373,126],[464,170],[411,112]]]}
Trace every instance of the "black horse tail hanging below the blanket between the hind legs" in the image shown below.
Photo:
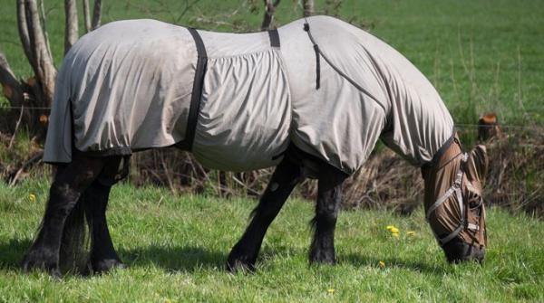
{"label": "black horse tail hanging below the blanket between the hind legs", "polygon": [[63,272],[88,273],[91,216],[85,216],[85,193],[81,194],[72,212],[66,218],[61,240],[59,265]]}

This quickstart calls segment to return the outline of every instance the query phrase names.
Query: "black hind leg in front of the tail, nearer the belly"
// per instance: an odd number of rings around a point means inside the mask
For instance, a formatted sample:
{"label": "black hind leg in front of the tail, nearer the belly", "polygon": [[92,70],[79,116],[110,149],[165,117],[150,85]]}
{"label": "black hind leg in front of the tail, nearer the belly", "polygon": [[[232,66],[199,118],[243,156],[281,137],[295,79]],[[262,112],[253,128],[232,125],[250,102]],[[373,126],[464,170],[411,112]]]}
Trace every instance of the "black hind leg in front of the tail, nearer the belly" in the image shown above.
{"label": "black hind leg in front of the tail, nearer the belly", "polygon": [[121,157],[112,157],[102,172],[87,188],[83,195],[85,215],[91,232],[90,264],[93,272],[100,273],[114,267],[124,267],[119,255],[113,247],[112,237],[106,220],[106,209],[110,190],[115,183]]}

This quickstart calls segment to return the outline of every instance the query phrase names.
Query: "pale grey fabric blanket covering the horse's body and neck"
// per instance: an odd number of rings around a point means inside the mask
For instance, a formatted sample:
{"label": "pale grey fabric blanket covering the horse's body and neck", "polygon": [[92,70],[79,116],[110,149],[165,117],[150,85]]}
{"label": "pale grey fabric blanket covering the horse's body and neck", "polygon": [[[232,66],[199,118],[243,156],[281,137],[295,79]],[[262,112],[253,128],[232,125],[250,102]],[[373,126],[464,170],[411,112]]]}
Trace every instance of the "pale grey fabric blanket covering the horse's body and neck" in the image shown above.
{"label": "pale grey fabric blanket covering the horse's body and neck", "polygon": [[289,144],[352,174],[378,138],[416,166],[432,161],[453,122],[432,84],[370,33],[332,17],[301,19],[269,33],[198,31],[152,20],[105,24],[67,53],[58,73],[44,161],[73,149],[129,155],[170,147],[187,135],[189,103],[200,100],[190,150],[210,168],[276,165]]}

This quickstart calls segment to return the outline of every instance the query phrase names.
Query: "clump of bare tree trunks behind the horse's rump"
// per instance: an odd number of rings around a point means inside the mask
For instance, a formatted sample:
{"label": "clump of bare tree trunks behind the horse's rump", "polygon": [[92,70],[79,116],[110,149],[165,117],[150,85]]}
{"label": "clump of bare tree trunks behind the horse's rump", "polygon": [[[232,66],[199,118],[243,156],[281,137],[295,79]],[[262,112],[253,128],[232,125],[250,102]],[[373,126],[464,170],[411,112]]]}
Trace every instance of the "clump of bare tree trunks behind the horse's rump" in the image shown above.
{"label": "clump of bare tree trunks behind the horse's rump", "polygon": [[[43,0],[17,0],[17,28],[24,54],[34,71],[34,76],[17,79],[4,53],[0,52],[0,84],[9,101],[4,131],[15,133],[20,126],[26,127],[32,136],[44,139],[53,101],[56,68],[45,30],[46,18]],[[95,0],[92,22],[88,0],[83,0],[85,30],[100,26],[102,0]],[[77,5],[75,0],[64,0],[64,53],[68,52],[79,37]]]}

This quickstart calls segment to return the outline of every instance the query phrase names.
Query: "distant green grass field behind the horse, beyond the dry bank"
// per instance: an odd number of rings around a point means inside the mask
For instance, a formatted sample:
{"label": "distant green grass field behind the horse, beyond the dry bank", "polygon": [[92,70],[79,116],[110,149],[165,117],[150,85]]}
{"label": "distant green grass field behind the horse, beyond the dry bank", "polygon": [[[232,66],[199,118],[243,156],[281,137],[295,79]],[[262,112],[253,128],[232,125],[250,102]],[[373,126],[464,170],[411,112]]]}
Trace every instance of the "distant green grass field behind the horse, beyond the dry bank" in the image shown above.
{"label": "distant green grass field behind the horse, beyond the dry bank", "polygon": [[[261,1],[201,0],[181,14],[186,3],[104,1],[102,21],[155,18],[236,32],[256,31],[262,21]],[[278,25],[300,17],[296,3],[280,3]],[[46,1],[45,7],[59,65],[63,3]],[[495,111],[503,124],[544,125],[544,5],[539,0],[317,0],[316,13],[338,15],[364,26],[403,52],[432,80],[458,124],[473,124],[481,113]],[[0,5],[0,18],[0,51],[18,75],[28,77],[31,70],[17,36],[15,2]]]}

